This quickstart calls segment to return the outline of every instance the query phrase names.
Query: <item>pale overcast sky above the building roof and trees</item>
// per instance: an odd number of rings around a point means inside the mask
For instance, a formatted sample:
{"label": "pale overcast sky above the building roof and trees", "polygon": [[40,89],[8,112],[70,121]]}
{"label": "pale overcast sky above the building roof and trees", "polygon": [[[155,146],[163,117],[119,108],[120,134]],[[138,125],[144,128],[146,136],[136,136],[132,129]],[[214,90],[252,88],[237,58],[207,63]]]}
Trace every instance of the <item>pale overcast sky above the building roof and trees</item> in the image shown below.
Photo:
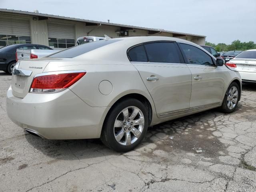
{"label": "pale overcast sky above the building roof and trees", "polygon": [[256,42],[256,0],[0,0],[0,8]]}

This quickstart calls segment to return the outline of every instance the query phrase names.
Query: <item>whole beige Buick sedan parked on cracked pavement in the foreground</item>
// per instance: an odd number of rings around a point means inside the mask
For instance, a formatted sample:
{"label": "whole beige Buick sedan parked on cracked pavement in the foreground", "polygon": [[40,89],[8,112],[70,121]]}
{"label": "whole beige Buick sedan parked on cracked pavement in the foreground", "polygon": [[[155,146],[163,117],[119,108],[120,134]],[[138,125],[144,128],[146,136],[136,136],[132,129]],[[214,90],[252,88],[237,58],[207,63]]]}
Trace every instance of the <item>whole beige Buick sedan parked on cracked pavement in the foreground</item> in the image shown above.
{"label": "whole beige Buick sedan parked on cracked pavement in the foreground", "polygon": [[233,112],[240,94],[239,72],[192,42],[116,38],[18,61],[7,112],[42,138],[101,138],[125,152],[148,126],[217,107]]}

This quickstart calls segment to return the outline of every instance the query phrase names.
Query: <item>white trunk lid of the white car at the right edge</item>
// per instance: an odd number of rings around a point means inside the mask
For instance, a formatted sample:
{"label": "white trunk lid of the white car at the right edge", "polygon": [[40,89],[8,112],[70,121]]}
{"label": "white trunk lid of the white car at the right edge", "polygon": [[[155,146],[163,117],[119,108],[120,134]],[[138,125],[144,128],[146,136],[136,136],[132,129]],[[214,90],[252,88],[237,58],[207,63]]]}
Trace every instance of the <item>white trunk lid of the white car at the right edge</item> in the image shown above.
{"label": "white trunk lid of the white car at the right edge", "polygon": [[236,70],[240,72],[255,72],[256,59],[232,59],[230,62],[236,64]]}

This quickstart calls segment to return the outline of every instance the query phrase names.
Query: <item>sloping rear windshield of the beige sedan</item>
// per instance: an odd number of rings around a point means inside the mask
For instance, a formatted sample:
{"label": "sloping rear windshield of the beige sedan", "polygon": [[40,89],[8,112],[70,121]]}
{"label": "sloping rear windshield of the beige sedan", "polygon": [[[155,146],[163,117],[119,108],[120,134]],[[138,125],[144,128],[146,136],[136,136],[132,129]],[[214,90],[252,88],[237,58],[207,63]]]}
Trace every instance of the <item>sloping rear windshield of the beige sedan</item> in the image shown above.
{"label": "sloping rear windshield of the beige sedan", "polygon": [[51,54],[48,57],[54,57],[54,58],[74,58],[76,56],[82,55],[84,53],[90,52],[94,49],[98,49],[100,47],[106,46],[108,44],[118,42],[120,39],[109,39],[109,40],[101,40],[101,41],[94,41],[90,43],[85,43],[79,46],[71,47],[68,49],[65,49],[63,51]]}

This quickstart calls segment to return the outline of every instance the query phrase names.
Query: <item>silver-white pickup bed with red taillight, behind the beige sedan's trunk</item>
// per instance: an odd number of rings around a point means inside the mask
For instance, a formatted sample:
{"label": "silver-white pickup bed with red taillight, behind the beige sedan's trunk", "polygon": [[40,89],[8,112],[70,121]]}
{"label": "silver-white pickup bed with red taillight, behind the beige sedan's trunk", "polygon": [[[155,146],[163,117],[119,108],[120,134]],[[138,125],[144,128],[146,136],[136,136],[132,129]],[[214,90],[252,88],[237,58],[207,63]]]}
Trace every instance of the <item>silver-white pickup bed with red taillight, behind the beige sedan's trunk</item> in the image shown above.
{"label": "silver-white pickup bed with red taillight, behind the beige sedan's trunk", "polygon": [[42,50],[42,49],[17,49],[16,61],[24,59],[36,59],[44,57],[60,50]]}

